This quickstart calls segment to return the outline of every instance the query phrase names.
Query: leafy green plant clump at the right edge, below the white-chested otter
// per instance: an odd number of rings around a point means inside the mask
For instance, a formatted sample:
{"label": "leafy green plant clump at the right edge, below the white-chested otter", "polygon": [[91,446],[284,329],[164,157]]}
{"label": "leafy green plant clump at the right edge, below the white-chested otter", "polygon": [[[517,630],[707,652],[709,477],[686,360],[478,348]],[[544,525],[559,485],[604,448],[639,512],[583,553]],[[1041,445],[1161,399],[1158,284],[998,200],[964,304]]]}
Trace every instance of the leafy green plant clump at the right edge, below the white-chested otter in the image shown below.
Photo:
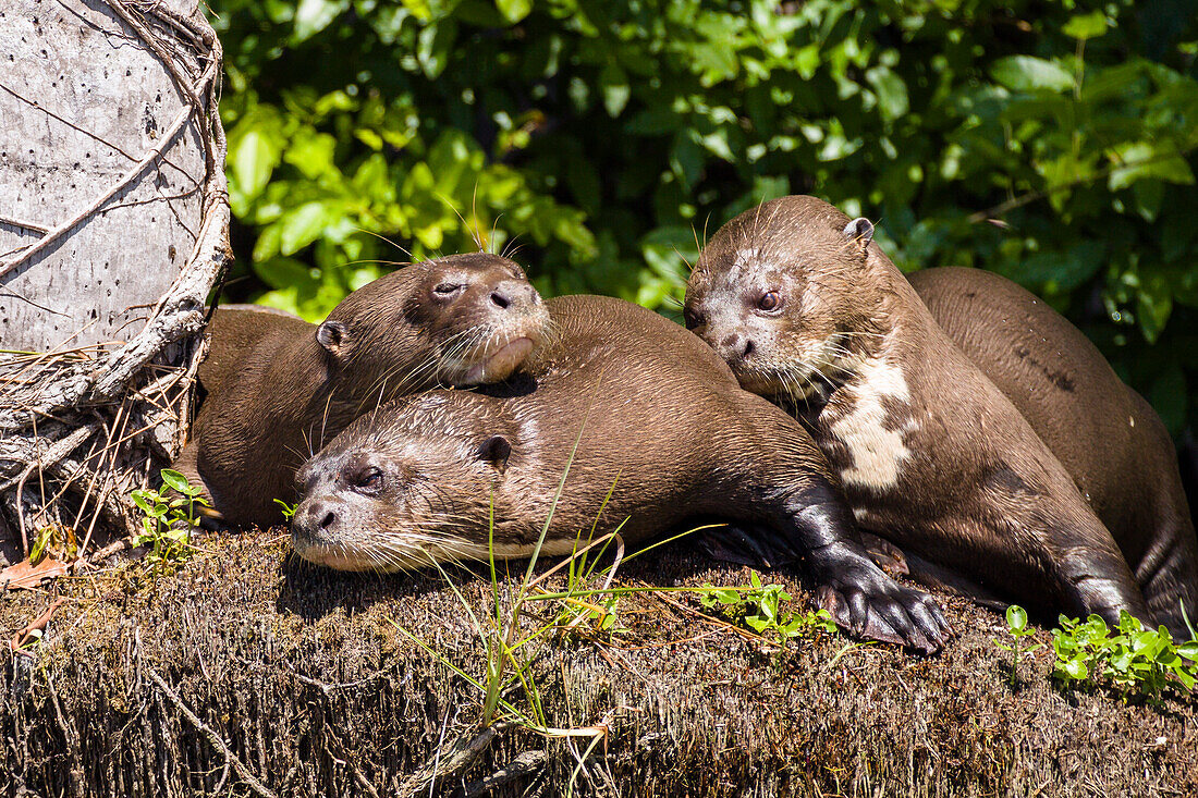
{"label": "leafy green plant clump at the right edge, below the white-chested otter", "polygon": [[1066,688],[1112,687],[1126,701],[1143,695],[1158,701],[1166,688],[1192,690],[1198,682],[1198,640],[1176,645],[1168,629],[1146,629],[1127,612],[1119,627],[1091,615],[1084,622],[1060,616],[1053,629],[1053,678]]}

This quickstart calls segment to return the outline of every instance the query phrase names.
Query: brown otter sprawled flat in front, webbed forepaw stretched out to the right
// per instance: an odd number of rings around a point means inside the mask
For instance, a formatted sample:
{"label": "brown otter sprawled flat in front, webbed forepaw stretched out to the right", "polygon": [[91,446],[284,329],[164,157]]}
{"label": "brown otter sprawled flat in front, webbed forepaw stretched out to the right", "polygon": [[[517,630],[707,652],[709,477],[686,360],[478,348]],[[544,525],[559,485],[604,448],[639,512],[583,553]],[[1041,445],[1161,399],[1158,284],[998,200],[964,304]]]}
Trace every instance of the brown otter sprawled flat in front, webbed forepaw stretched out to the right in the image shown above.
{"label": "brown otter sprawled flat in front, webbed forepaw stretched out to the right", "polygon": [[939,607],[869,558],[794,419],[654,313],[609,297],[547,304],[561,339],[538,356],[531,389],[399,399],[303,466],[292,519],[303,557],[383,572],[486,558],[492,507],[496,556],[530,556],[550,514],[543,551],[567,554],[615,485],[600,521],[627,519],[630,542],[701,514],[756,522],[805,555],[821,601],[846,628],[924,651],[943,645]]}

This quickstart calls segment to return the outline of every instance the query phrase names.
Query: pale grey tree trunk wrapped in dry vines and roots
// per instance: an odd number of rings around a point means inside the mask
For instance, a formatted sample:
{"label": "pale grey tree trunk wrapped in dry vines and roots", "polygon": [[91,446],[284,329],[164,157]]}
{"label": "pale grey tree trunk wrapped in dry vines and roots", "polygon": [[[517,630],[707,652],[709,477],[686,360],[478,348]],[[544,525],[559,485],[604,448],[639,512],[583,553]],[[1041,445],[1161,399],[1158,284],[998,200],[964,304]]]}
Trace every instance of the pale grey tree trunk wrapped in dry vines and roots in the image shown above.
{"label": "pale grey tree trunk wrapped in dry vines and roots", "polygon": [[[0,566],[85,561],[177,453],[229,258],[220,44],[190,0],[0,11]],[[52,536],[53,537],[53,536]],[[62,554],[62,552],[60,552]]]}

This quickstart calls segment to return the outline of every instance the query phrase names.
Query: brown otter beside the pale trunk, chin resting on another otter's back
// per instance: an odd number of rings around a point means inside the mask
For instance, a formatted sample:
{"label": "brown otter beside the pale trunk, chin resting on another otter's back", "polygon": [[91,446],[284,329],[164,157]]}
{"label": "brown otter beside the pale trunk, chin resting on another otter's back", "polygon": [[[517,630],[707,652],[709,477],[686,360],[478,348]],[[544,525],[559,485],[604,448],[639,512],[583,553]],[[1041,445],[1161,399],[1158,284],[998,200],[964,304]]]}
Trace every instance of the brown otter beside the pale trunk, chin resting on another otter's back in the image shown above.
{"label": "brown otter beside the pale trunk, chin resting on another otter's back", "polygon": [[325,440],[391,397],[506,379],[545,340],[549,314],[516,264],[477,253],[381,277],[320,325],[218,309],[212,327],[208,395],[175,467],[225,524],[267,526]]}

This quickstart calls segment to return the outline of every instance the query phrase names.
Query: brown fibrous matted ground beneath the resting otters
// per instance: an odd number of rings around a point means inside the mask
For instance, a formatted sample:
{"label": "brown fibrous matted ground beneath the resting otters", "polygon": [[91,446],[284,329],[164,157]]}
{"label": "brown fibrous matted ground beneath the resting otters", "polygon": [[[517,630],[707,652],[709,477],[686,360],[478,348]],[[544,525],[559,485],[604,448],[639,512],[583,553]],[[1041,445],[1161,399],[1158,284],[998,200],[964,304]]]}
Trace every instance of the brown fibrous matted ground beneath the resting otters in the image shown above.
{"label": "brown fibrous matted ground beneath the resting otters", "polygon": [[[486,617],[484,568],[450,573],[459,598],[436,572],[305,566],[278,532],[201,545],[157,579],[127,563],[0,596],[6,636],[66,599],[32,655],[4,658],[0,794],[383,796],[405,794],[422,768],[453,772],[449,744],[476,737],[484,694],[446,663],[483,673],[462,599]],[[617,584],[748,584],[748,569],[689,549],[627,562]],[[766,581],[805,606],[793,574]],[[958,636],[938,657],[822,634],[779,664],[702,616],[695,594],[628,596],[619,630],[552,634],[532,687],[504,694],[520,708],[534,695],[550,726],[604,736],[503,729],[420,794],[1198,794],[1198,696],[1125,706],[1065,693],[1045,649],[1012,689],[1011,655],[993,645],[1002,619],[943,601]],[[544,606],[544,618],[559,607]],[[512,780],[482,792],[489,776]]]}

